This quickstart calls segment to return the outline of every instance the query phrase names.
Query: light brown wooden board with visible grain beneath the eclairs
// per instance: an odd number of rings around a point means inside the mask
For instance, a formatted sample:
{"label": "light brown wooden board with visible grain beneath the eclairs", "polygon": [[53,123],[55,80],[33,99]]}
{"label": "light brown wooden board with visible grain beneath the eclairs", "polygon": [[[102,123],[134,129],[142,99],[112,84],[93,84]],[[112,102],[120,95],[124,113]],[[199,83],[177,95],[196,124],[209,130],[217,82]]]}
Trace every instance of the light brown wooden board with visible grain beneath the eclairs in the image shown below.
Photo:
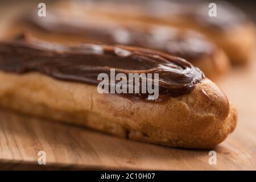
{"label": "light brown wooden board with visible grain beneath the eclairs", "polygon": [[[1,7],[6,18],[10,9]],[[0,109],[0,169],[256,170],[256,60],[234,68],[218,85],[237,107],[238,125],[212,149],[216,165],[208,163],[210,150],[139,143]],[[39,151],[46,152],[46,165],[38,164]]]}

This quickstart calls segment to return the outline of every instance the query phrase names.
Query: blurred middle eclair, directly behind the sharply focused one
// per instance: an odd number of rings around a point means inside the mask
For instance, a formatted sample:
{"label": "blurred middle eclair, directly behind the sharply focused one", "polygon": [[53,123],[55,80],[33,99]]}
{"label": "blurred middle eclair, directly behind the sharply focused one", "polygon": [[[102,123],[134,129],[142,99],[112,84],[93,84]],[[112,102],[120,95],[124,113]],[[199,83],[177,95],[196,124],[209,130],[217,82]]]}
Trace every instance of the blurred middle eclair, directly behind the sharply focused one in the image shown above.
{"label": "blurred middle eclair, directly behind the sharply focused one", "polygon": [[188,60],[212,80],[229,71],[224,51],[197,31],[86,14],[86,9],[68,5],[62,2],[49,7],[46,17],[31,11],[17,19],[7,34],[11,37],[29,32],[38,39],[65,44],[86,42],[156,49]]}

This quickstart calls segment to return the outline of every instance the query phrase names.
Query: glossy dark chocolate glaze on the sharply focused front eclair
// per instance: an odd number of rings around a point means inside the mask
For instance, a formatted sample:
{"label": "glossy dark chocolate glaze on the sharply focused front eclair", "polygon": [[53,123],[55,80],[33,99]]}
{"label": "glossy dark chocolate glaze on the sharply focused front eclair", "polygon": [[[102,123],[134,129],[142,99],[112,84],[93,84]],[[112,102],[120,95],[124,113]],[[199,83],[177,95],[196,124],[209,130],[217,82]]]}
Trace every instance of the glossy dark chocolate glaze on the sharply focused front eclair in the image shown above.
{"label": "glossy dark chocolate glaze on the sharply focused front eclair", "polygon": [[203,72],[179,57],[149,49],[82,44],[76,47],[24,40],[0,42],[0,70],[39,72],[59,80],[97,85],[99,73],[159,73],[159,94],[191,92]]}

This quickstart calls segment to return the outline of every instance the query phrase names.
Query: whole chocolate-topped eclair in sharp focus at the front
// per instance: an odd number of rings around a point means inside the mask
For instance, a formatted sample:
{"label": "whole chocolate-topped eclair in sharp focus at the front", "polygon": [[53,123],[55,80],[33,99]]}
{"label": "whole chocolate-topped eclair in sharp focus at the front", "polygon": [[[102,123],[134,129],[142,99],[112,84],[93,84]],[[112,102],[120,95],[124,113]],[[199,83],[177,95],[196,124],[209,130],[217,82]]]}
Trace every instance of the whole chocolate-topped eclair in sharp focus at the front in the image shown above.
{"label": "whole chocolate-topped eclair in sharp focus at the front", "polygon": [[[159,97],[100,93],[98,75],[112,69],[122,77],[158,74],[146,80],[158,82]],[[164,146],[212,148],[237,122],[225,93],[199,68],[151,49],[20,36],[0,42],[0,81],[2,107]]]}

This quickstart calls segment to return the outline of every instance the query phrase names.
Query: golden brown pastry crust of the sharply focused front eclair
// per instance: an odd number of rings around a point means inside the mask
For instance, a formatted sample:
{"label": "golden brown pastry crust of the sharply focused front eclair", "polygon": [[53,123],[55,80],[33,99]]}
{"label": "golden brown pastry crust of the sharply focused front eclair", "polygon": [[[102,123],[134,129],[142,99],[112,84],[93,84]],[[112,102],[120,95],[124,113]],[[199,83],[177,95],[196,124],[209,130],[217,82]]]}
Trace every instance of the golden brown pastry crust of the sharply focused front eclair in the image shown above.
{"label": "golden brown pastry crust of the sharply focused front eclair", "polygon": [[159,104],[99,94],[94,85],[40,73],[0,72],[0,80],[1,106],[165,146],[214,147],[236,125],[228,98],[207,78],[191,93]]}

